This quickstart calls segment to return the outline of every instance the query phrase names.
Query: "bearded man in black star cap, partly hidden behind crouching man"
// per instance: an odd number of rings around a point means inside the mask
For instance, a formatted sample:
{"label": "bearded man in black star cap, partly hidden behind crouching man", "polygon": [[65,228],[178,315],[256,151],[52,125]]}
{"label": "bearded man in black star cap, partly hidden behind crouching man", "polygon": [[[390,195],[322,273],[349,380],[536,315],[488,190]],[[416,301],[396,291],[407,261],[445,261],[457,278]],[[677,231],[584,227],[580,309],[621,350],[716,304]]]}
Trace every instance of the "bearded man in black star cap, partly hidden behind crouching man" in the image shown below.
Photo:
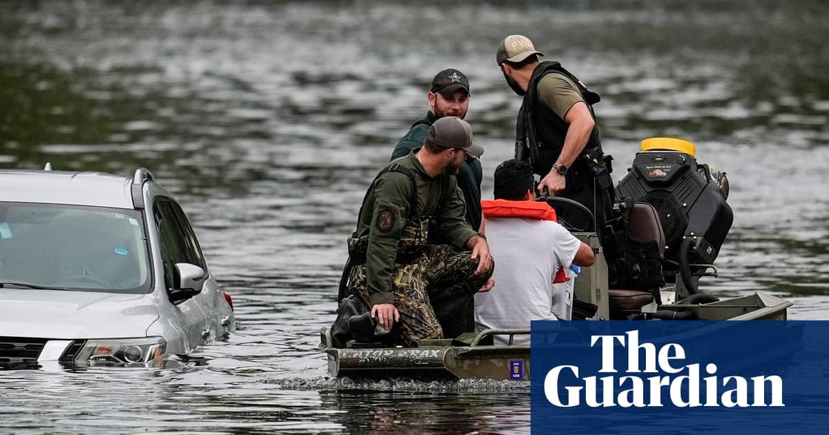
{"label": "bearded man in black star cap, partly hidden behind crouching man", "polygon": [[[434,75],[432,87],[426,98],[429,100],[429,112],[424,118],[415,121],[409,132],[395,145],[391,152],[391,160],[404,157],[414,148],[423,147],[429,126],[444,116],[465,118],[469,109],[469,80],[460,70],[449,68]],[[483,218],[481,213],[481,181],[483,171],[478,157],[467,156],[461,164],[458,174],[458,187],[463,193],[466,202],[466,220],[473,229],[483,232]],[[444,328],[444,335],[458,336],[463,332],[475,330],[474,304],[470,300],[467,307],[458,310],[446,317],[440,318]]]}

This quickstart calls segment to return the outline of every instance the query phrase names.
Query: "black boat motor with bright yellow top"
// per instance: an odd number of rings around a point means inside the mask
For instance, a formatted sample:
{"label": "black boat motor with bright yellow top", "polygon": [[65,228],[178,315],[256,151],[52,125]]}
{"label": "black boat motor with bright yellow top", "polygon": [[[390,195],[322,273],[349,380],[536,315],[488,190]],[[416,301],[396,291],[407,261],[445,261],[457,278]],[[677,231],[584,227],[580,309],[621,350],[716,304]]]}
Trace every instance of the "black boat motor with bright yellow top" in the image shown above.
{"label": "black boat motor with bright yellow top", "polygon": [[728,194],[725,172],[697,163],[695,145],[675,138],[643,140],[616,187],[618,197],[657,210],[666,239],[662,273],[667,283],[677,283],[679,274],[691,294],[705,269],[713,268],[734,221]]}

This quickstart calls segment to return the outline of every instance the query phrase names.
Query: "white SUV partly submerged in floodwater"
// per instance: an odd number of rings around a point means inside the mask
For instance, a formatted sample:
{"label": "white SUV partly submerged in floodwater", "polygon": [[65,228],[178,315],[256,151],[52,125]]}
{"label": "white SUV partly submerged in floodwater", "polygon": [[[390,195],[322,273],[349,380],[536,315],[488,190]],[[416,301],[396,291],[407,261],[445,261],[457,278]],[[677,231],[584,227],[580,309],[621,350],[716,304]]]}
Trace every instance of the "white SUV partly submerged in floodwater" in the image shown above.
{"label": "white SUV partly submerged in floodwater", "polygon": [[146,364],[234,328],[187,216],[146,169],[0,171],[0,367]]}

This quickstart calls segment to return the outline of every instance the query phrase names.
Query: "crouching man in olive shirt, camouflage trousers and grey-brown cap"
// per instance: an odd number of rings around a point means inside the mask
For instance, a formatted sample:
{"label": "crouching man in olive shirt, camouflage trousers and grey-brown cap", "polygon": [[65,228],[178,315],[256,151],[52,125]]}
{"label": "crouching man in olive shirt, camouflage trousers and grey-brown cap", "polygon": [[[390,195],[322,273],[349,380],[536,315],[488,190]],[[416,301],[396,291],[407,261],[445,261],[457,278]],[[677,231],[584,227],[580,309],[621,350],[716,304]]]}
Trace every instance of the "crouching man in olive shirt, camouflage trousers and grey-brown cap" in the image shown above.
{"label": "crouching man in olive shirt, camouflage trousers and grey-brown cap", "polygon": [[366,192],[348,241],[361,264],[347,286],[386,329],[399,323],[407,346],[443,337],[438,317],[464,307],[492,275],[487,240],[465,220],[455,176],[467,155],[482,153],[466,121],[439,118],[424,146],[391,162]]}

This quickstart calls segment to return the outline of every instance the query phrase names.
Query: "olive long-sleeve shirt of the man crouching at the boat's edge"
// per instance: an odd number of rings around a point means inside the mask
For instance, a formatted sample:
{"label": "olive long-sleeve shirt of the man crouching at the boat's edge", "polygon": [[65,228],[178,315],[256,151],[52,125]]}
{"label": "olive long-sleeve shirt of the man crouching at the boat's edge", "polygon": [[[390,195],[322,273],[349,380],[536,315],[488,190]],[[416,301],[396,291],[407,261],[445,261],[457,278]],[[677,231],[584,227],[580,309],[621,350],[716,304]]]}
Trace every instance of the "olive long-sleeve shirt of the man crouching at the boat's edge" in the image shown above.
{"label": "olive long-sleeve shirt of the man crouching at the boat's edge", "polygon": [[[429,176],[420,164],[414,152],[393,160],[390,165],[398,164],[408,169],[417,189],[417,209],[414,216],[434,216],[435,225],[431,228],[438,234],[429,234],[429,238],[440,235],[450,244],[463,248],[466,241],[478,234],[465,219],[466,206],[458,189],[455,176],[440,174]],[[442,177],[448,177],[448,190],[441,197]],[[389,171],[382,173],[371,184],[363,203],[357,222],[357,234],[368,234],[366,250],[366,278],[369,302],[394,303],[392,279],[395,273],[400,231],[410,216],[412,183],[404,173]]]}

